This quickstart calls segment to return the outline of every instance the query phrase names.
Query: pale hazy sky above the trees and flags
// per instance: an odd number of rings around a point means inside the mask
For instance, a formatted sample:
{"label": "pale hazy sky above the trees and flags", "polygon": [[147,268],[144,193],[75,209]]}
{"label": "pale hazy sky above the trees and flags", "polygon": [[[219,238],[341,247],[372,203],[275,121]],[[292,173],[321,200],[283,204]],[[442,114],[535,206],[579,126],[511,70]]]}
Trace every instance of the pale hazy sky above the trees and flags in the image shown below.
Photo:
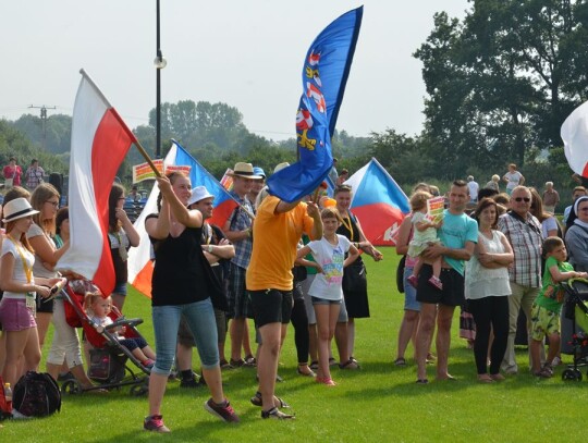
{"label": "pale hazy sky above the trees and flags", "polygon": [[[421,131],[422,65],[413,58],[433,14],[463,19],[467,0],[161,0],[162,102],[225,102],[250,132],[295,136],[304,57],[315,37],[364,4],[338,120],[350,135]],[[156,106],[156,0],[23,0],[0,5],[0,119],[32,108],[72,114],[85,69],[134,128]]]}

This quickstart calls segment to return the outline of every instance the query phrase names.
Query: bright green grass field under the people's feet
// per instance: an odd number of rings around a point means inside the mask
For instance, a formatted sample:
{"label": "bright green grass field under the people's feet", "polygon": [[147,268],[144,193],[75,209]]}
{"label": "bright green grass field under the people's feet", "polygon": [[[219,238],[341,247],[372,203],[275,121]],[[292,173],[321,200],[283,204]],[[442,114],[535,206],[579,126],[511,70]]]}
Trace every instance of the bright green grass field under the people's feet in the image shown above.
{"label": "bright green grass field under the people's feet", "polygon": [[[206,390],[186,392],[180,390],[179,382],[170,382],[162,410],[172,429],[169,435],[143,432],[147,398],[131,397],[122,390],[101,396],[64,396],[60,414],[4,422],[0,441],[584,441],[586,378],[579,383],[564,383],[559,369],[551,380],[535,380],[525,369],[526,352],[519,349],[522,371],[517,377],[503,383],[478,384],[471,350],[457,337],[457,317],[450,356],[450,371],[456,382],[416,385],[412,359],[406,368],[394,367],[403,296],[395,290],[397,259],[393,248],[384,248],[384,256],[380,263],[367,260],[371,318],[357,322],[355,352],[362,370],[334,370],[335,387],[297,376],[293,331],[289,331],[280,367],[285,381],[278,383],[277,394],[293,406],[294,421],[260,419],[259,408],[249,403],[256,391],[255,371],[243,368],[223,373],[226,395],[242,418],[238,426],[222,423],[203,409]],[[131,293],[125,310],[145,319],[140,329],[152,343],[149,302]],[[407,356],[412,356],[412,348]],[[429,376],[432,379],[432,368]]]}

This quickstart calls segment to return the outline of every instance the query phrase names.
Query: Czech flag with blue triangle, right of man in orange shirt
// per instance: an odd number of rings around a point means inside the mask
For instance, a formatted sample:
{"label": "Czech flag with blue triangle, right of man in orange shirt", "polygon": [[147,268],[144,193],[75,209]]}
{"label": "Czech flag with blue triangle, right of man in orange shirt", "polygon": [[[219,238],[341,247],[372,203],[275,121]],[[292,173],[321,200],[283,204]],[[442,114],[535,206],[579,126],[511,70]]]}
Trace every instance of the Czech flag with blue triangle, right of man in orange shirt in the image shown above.
{"label": "Czech flag with blue triangle, right of man in orange shirt", "polygon": [[408,197],[372,158],[345,182],[352,187],[351,211],[357,216],[367,239],[375,246],[394,245],[394,235],[411,212]]}

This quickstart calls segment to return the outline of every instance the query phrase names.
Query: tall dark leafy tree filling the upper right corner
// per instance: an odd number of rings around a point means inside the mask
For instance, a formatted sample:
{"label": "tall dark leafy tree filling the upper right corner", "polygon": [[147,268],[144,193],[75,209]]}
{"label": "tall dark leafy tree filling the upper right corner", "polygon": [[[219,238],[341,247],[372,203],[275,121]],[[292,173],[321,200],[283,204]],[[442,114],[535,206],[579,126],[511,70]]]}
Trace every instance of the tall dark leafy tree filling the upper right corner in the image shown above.
{"label": "tall dark leafy tree filling the upper right corner", "polygon": [[427,136],[455,173],[523,164],[531,148],[561,145],[561,124],[588,96],[585,0],[471,3],[463,23],[436,14],[415,52]]}

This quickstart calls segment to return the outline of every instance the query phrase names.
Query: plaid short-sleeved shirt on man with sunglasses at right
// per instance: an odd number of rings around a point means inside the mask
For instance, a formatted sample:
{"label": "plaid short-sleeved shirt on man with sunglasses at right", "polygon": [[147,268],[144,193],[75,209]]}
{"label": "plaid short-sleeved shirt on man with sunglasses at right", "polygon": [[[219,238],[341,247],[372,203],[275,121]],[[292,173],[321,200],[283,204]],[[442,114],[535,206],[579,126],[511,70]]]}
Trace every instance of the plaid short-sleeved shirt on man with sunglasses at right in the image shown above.
{"label": "plaid short-sleeved shirt on man with sunglasses at right", "polygon": [[526,219],[509,211],[499,219],[498,227],[506,235],[514,251],[509,268],[511,282],[526,287],[541,287],[541,225],[527,212]]}

